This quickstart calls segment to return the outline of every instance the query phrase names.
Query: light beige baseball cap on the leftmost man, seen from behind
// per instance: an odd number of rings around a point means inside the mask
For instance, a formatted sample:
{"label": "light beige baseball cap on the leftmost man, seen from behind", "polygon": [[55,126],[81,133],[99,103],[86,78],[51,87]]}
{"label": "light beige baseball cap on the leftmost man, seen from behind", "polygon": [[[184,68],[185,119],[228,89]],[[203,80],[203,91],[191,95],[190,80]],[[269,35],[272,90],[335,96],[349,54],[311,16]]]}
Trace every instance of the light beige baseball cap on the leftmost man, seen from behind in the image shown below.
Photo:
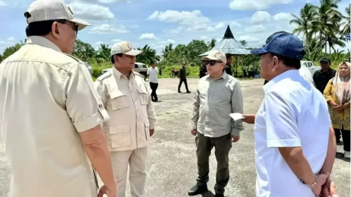
{"label": "light beige baseball cap on the leftmost man, seen from behind", "polygon": [[78,30],[84,29],[86,26],[91,26],[90,23],[75,19],[73,12],[61,0],[37,0],[32,2],[24,13],[27,18],[27,23],[48,20],[67,20],[78,25]]}

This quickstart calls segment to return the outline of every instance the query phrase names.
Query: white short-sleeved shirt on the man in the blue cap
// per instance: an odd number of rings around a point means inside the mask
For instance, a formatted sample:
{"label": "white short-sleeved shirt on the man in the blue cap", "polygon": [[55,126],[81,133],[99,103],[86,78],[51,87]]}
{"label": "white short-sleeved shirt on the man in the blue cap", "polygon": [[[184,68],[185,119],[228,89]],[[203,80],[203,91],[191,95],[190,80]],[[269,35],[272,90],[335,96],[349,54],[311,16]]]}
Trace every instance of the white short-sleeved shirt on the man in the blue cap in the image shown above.
{"label": "white short-sleeved shirt on the man in the blue cap", "polygon": [[298,70],[278,75],[264,86],[264,92],[254,124],[257,196],[314,197],[278,148],[302,147],[318,174],[326,158],[331,127],[327,103]]}

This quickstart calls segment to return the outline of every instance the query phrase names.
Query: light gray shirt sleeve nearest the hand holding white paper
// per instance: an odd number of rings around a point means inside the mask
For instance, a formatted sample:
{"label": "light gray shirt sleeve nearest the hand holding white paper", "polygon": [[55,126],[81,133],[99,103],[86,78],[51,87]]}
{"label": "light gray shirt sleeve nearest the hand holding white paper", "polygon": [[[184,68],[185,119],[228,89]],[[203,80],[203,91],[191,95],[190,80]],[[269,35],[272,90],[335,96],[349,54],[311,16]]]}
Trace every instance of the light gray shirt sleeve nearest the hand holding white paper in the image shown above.
{"label": "light gray shirt sleeve nearest the hand holding white paper", "polygon": [[[231,103],[232,103],[232,113],[240,113],[240,114],[244,113],[243,93],[241,92],[241,86],[238,81],[234,84]],[[244,130],[243,121],[232,120],[231,135],[239,136],[240,131],[242,130]]]}

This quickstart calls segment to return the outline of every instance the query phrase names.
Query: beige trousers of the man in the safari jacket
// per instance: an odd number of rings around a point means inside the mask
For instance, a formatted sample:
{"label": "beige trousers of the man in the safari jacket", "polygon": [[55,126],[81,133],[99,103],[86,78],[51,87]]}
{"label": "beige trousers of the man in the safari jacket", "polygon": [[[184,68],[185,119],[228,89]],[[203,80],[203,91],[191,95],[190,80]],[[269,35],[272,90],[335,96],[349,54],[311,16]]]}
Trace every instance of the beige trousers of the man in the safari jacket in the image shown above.
{"label": "beige trousers of the man in the safari jacket", "polygon": [[131,197],[145,196],[145,161],[147,147],[134,150],[112,151],[111,160],[113,174],[117,183],[117,196],[126,196],[127,170],[129,163],[129,183],[131,185]]}

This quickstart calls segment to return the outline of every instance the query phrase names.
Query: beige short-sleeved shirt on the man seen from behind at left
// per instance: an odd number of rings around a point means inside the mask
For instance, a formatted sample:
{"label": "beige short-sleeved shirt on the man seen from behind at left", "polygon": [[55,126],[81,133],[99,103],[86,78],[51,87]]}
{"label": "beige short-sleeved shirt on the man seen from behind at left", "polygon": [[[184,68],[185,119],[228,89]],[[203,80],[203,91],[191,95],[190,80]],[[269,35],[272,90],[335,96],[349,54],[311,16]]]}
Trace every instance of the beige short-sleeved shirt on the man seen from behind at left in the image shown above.
{"label": "beige short-sleeved shirt on the man seen from behind at left", "polygon": [[107,121],[83,62],[30,36],[0,64],[0,127],[10,197],[96,197],[79,132]]}

